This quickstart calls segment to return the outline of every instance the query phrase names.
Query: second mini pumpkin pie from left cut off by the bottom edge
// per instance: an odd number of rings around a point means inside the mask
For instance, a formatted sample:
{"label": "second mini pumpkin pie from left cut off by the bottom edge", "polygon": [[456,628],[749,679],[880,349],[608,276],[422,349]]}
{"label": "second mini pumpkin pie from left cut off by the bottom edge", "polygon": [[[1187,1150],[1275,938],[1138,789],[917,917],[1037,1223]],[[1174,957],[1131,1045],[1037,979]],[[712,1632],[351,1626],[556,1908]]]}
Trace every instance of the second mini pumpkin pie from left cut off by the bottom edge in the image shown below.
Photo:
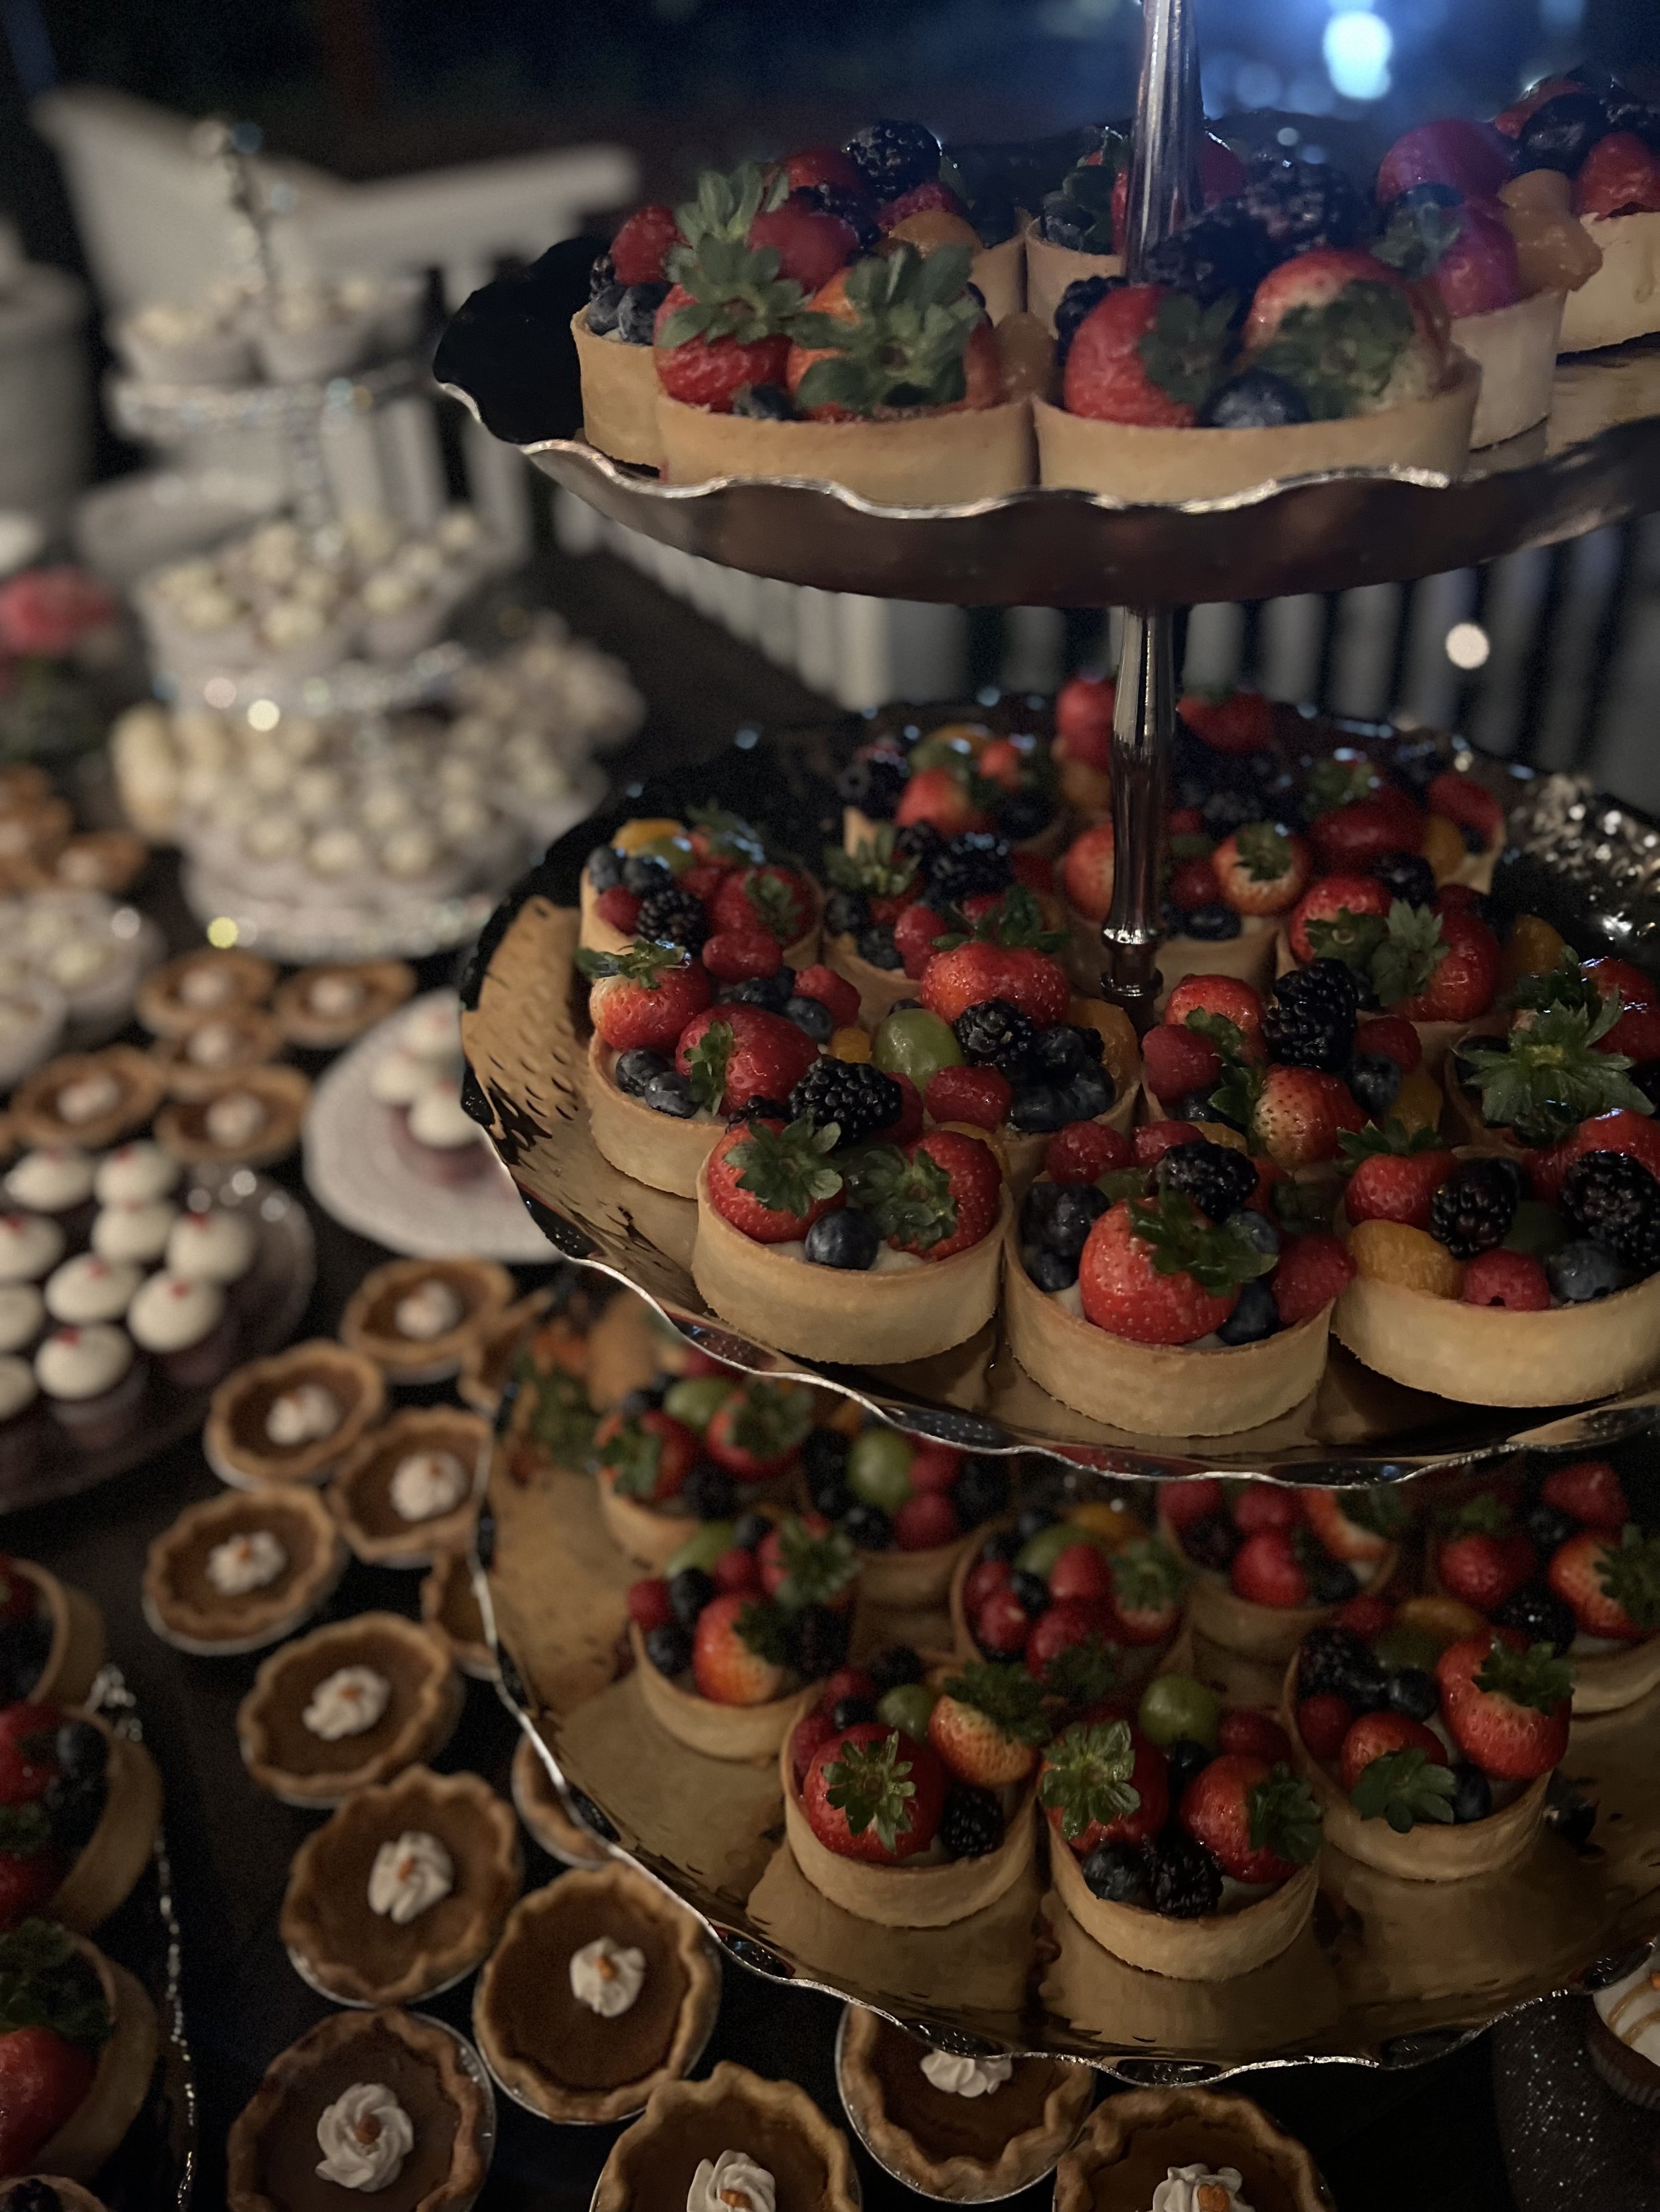
{"label": "second mini pumpkin pie from left cut off by the bottom edge", "polygon": [[859,2212],[841,2128],[795,2081],[722,2062],[664,2081],[604,2161],[591,2212]]}

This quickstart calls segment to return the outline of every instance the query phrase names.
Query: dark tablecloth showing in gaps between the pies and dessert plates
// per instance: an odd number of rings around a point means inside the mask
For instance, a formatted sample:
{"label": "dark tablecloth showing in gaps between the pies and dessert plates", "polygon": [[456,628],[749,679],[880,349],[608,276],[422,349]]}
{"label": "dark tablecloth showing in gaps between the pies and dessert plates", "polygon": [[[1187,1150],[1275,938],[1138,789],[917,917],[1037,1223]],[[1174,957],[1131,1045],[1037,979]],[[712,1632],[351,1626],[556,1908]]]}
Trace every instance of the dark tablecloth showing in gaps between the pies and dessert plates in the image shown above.
{"label": "dark tablecloth showing in gaps between the pies and dessert plates", "polygon": [[[549,555],[547,575],[573,628],[622,653],[651,701],[646,739],[624,759],[624,779],[635,757],[642,770],[662,768],[728,743],[741,721],[779,726],[826,717],[821,699],[620,562]],[[173,949],[199,942],[164,858],[153,865],[139,902],[162,922]],[[449,964],[425,962],[421,975],[423,987],[440,984],[449,980]],[[297,1159],[274,1175],[303,1197]],[[332,1334],[345,1298],[385,1252],[310,1199],[305,1203],[317,1230],[319,1274],[299,1334]],[[520,1270],[522,1283],[536,1279],[538,1270]],[[443,1391],[403,1396],[421,1400]],[[292,1971],[277,1936],[290,1860],[314,1816],[263,1796],[237,1756],[237,1703],[257,1659],[186,1657],[162,1644],[139,1613],[148,1542],[217,1486],[197,1442],[186,1442],[97,1491],[11,1515],[0,1526],[7,1551],[44,1562],[104,1608],[111,1657],[139,1699],[162,1765],[199,2097],[199,2208],[224,2203],[226,2135],[266,2064],[328,2013],[325,2000]],[[354,1564],[323,1617],[370,1606],[414,1615],[416,1588],[414,1575]],[[463,1723],[436,1765],[471,1767],[507,1794],[513,1743],[516,1723],[496,1692],[469,1683]],[[558,1874],[529,1838],[525,1849],[527,1885]],[[469,2004],[471,1982],[434,2000],[429,2011],[465,2028]],[[837,2011],[830,1997],[779,1991],[728,1964],[719,2024],[699,2070],[737,2059],[759,2073],[788,2075],[843,2121],[832,2068]],[[1505,2177],[1492,2046],[1494,2037],[1483,2035],[1452,2057],[1399,2073],[1268,2068],[1239,2088],[1310,2146],[1339,2212],[1399,2212],[1403,2203],[1414,2212],[1529,2212],[1518,2208]],[[498,2150],[480,2212],[582,2212],[615,2135],[615,2128],[551,2128],[500,2099]],[[870,2208],[899,2212],[921,2201],[863,2150],[857,2157]],[[1011,2203],[1036,2212],[1049,2203],[1049,2183]]]}

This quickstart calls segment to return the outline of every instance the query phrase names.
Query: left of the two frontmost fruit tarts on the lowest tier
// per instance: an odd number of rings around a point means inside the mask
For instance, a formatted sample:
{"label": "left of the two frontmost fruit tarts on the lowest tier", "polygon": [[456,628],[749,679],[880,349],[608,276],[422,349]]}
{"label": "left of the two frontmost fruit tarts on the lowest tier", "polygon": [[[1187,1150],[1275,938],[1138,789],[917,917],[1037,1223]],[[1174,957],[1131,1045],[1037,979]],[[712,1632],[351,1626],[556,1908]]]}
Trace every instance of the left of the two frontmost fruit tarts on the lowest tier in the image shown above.
{"label": "left of the two frontmost fruit tarts on the lowest tier", "polygon": [[808,1882],[859,1920],[950,1927],[1031,1867],[1045,1699],[1025,1668],[978,1661],[876,1688],[876,1668],[848,1668],[799,1712],[779,1745],[784,1834]]}

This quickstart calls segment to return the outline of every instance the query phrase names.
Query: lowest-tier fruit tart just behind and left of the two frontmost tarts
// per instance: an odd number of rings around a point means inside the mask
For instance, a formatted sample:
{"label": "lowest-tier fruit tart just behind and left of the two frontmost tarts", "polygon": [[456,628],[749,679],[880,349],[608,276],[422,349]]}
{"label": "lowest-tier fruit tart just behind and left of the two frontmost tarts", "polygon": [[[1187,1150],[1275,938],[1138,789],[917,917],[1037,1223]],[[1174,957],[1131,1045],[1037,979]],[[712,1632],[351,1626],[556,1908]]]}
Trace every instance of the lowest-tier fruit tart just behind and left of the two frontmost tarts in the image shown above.
{"label": "lowest-tier fruit tart just behind and left of the two frontmost tarts", "polygon": [[708,1568],[629,1588],[629,1648],[646,1710],[671,1736],[710,1759],[766,1761],[790,1732],[801,1686],[848,1655],[859,1562],[817,1513],[710,1528],[710,1544],[730,1542]]}

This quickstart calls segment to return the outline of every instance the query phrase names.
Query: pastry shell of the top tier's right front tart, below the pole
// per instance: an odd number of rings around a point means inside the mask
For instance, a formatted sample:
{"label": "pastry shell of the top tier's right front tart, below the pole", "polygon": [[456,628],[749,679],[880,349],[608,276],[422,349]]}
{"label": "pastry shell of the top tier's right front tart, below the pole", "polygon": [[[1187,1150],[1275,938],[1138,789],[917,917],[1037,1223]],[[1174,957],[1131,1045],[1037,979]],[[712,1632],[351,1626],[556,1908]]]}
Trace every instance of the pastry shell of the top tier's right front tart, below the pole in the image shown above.
{"label": "pastry shell of the top tier's right front tart, below the pole", "polygon": [[1226,500],[1299,476],[1425,471],[1459,476],[1470,456],[1481,369],[1454,361],[1441,392],[1339,422],[1282,429],[1149,429],[1096,422],[1034,400],[1040,482],[1131,507]]}

